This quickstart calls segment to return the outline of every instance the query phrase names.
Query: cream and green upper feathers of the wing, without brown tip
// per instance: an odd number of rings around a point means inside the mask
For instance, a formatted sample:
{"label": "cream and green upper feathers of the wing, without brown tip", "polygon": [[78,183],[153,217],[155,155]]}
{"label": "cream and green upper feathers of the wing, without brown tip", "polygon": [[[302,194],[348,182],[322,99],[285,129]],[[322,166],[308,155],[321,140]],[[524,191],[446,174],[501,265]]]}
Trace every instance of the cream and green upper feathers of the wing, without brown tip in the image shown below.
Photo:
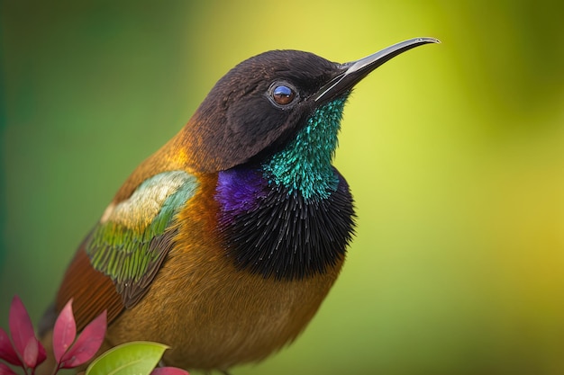
{"label": "cream and green upper feathers of the wing, without brown tip", "polygon": [[111,204],[86,244],[92,266],[115,283],[126,308],[141,297],[173,245],[177,212],[194,196],[185,171],[156,174],[125,201]]}

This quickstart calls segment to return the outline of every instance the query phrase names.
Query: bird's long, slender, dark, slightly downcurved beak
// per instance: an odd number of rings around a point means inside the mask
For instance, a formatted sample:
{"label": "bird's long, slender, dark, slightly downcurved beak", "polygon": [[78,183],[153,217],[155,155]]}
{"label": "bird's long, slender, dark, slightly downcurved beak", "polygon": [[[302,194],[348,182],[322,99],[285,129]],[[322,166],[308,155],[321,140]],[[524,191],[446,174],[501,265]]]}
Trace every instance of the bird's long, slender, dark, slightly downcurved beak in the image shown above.
{"label": "bird's long, slender, dark, slightly downcurved beak", "polygon": [[390,58],[394,58],[408,49],[413,49],[423,44],[440,43],[441,41],[434,38],[414,38],[410,40],[400,41],[399,43],[389,46],[386,49],[379,50],[366,58],[360,58],[356,61],[350,61],[341,65],[343,72],[335,76],[327,85],[323,85],[319,91],[314,94],[314,101],[319,102],[323,99],[331,100],[340,94],[349,91],[359,81],[368,76],[372,70],[384,64]]}

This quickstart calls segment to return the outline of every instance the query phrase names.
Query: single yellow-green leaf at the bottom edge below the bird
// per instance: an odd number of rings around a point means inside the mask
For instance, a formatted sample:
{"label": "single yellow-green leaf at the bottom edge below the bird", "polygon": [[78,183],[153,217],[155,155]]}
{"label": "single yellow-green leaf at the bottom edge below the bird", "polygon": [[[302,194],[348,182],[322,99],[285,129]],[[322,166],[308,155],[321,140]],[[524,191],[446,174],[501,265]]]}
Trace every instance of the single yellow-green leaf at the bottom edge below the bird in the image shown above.
{"label": "single yellow-green leaf at the bottom edge below the bird", "polygon": [[118,345],[92,362],[86,375],[149,375],[167,349],[147,341]]}

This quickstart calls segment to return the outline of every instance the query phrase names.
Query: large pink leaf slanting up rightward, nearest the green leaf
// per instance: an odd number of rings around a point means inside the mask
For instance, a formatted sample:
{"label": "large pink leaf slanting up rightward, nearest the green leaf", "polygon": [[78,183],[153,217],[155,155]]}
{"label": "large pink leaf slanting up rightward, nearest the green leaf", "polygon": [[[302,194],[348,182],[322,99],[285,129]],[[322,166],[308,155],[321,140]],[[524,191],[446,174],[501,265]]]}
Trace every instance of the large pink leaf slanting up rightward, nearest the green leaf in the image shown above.
{"label": "large pink leaf slanting up rightward, nearest the green leaf", "polygon": [[106,311],[91,321],[78,335],[77,342],[60,360],[61,369],[71,369],[88,362],[104,342]]}

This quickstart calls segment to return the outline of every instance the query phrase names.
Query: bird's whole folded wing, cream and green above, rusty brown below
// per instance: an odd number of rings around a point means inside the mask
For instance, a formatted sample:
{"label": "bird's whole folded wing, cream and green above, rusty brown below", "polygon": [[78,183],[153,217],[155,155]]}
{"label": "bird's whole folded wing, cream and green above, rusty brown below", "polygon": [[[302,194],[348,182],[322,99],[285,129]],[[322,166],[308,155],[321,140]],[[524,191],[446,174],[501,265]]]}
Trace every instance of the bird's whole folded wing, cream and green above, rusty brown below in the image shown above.
{"label": "bird's whole folded wing, cream and green above, rusty brown below", "polygon": [[175,215],[199,183],[185,171],[156,174],[114,202],[78,249],[61,284],[57,305],[73,298],[77,326],[104,309],[108,321],[132,308],[149,289],[174,243]]}

